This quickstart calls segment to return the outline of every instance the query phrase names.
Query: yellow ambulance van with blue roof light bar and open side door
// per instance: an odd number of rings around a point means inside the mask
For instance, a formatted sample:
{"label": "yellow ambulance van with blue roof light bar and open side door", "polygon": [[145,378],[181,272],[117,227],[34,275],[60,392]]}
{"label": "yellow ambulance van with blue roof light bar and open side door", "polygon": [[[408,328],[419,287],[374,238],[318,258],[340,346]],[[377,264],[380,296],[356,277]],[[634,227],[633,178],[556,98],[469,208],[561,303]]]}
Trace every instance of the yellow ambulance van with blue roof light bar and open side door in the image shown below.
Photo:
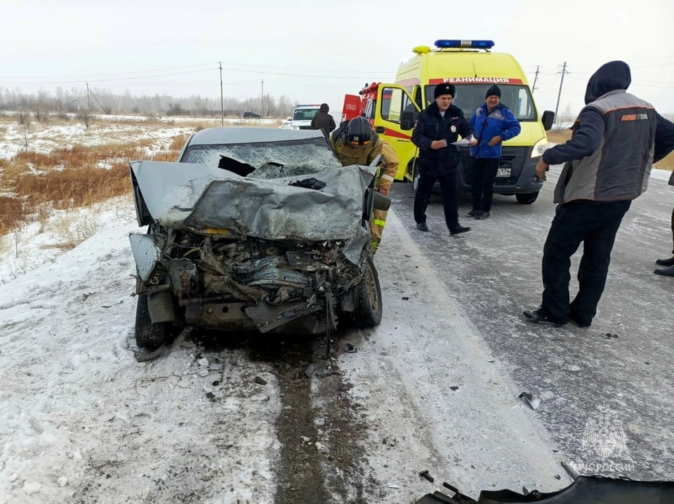
{"label": "yellow ambulance van with blue roof light bar and open side door", "polygon": [[[419,111],[433,102],[437,84],[456,86],[453,104],[463,110],[466,119],[484,103],[490,86],[501,88],[501,102],[520,121],[522,132],[503,142],[494,193],[515,196],[522,204],[536,201],[543,181],[536,177],[536,164],[546,150],[546,131],[553,126],[555,113],[541,114],[536,108],[527,77],[512,55],[494,53],[493,41],[437,40],[435,48],[418,46],[415,56],[399,66],[394,84],[369,84],[355,95],[345,96],[343,119],[362,115],[371,121],[378,135],[397,152],[400,168],[397,180],[409,180],[416,187],[418,149],[411,134]],[[357,112],[354,111],[357,110]],[[470,149],[461,152],[459,178],[463,190],[470,191],[473,180]]]}

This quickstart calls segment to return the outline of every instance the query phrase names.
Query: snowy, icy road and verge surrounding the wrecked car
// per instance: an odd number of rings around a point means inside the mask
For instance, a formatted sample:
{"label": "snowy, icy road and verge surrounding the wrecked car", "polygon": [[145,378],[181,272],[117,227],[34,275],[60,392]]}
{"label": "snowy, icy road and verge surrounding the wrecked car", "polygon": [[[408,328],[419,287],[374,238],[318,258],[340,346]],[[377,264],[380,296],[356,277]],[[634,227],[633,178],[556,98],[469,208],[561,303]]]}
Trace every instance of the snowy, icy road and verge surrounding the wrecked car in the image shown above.
{"label": "snowy, icy road and verge surrounding the wrecked car", "polygon": [[[440,205],[417,233],[396,185],[376,256],[385,318],[344,334],[357,352],[330,368],[315,341],[211,335],[136,362],[133,223],[0,286],[0,503],[408,504],[444,481],[473,498],[558,489],[562,458],[672,477],[674,289],[652,262],[674,198],[654,180],[628,214],[596,327],[553,330],[520,317],[538,301],[550,187],[533,206],[499,198],[451,239]],[[582,446],[604,403],[626,435],[608,458]]]}

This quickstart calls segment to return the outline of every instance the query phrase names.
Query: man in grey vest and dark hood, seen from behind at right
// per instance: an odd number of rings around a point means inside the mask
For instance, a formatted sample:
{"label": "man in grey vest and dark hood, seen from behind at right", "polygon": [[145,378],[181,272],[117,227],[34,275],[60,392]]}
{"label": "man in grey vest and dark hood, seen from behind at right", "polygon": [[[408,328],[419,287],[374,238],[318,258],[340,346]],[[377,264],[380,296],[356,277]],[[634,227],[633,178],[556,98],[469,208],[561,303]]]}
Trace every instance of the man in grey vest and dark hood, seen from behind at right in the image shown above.
{"label": "man in grey vest and dark hood, seen from behind at right", "polygon": [[[546,151],[536,174],[546,180],[550,164],[564,164],[555,187],[558,204],[543,249],[543,299],[524,316],[557,326],[589,327],[609,270],[616,234],[632,200],[646,192],[654,161],[674,150],[674,124],[653,105],[627,93],[630,67],[602,65],[590,77],[586,107],[571,140]],[[579,292],[569,303],[571,256],[583,242]]]}

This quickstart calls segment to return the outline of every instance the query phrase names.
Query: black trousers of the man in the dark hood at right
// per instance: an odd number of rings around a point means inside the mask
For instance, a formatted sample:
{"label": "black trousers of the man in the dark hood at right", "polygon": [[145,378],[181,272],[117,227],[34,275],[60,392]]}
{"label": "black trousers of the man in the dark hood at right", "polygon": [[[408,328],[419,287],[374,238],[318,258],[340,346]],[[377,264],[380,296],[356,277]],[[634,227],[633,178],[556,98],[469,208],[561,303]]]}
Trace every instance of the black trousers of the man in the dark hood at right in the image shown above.
{"label": "black trousers of the man in the dark hood at right", "polygon": [[[604,293],[611,251],[623,216],[632,201],[571,201],[557,206],[543,249],[543,311],[553,322],[569,316],[589,324]],[[569,303],[571,256],[583,242],[578,270],[579,293]]]}

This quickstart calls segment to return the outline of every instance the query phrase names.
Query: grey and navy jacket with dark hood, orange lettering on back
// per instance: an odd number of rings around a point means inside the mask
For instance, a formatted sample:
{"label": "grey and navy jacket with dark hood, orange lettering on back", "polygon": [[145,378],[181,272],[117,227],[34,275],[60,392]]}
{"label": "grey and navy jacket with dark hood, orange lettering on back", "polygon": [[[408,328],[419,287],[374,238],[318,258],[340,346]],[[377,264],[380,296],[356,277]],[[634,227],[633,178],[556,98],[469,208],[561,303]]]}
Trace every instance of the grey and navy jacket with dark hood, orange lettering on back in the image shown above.
{"label": "grey and navy jacket with dark hood, orange lettering on back", "polygon": [[630,83],[622,61],[590,77],[571,140],[543,154],[548,164],[564,163],[555,203],[636,199],[647,190],[653,162],[674,150],[674,124],[627,93]]}

